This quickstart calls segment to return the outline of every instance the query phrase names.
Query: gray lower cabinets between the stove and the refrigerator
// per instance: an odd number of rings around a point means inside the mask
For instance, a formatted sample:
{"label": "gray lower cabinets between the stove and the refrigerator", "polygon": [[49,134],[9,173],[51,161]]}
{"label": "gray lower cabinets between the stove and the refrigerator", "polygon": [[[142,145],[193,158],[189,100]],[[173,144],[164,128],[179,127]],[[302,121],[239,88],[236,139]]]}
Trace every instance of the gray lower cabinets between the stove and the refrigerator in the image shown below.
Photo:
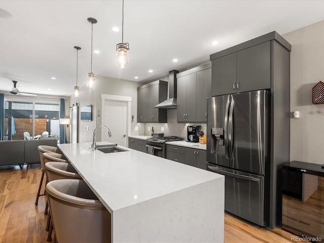
{"label": "gray lower cabinets between the stove and the refrigerator", "polygon": [[167,144],[167,159],[206,170],[206,150]]}

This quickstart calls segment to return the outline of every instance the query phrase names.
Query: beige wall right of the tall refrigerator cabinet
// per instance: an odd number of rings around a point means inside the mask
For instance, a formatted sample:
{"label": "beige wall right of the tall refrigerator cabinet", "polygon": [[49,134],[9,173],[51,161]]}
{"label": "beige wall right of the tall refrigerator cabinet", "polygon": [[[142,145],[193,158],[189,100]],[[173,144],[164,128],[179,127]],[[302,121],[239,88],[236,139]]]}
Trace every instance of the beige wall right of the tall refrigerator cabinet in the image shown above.
{"label": "beige wall right of the tall refrigerator cabinet", "polygon": [[324,104],[312,104],[312,87],[324,81],[324,21],[282,35],[292,45],[290,159],[324,164]]}

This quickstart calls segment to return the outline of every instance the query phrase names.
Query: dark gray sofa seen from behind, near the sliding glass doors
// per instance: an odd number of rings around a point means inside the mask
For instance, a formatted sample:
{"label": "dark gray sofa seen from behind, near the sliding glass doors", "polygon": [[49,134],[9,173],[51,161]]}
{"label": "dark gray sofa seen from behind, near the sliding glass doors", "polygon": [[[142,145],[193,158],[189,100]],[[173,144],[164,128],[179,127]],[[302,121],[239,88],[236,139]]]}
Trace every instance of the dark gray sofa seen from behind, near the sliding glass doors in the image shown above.
{"label": "dark gray sofa seen from behind, near the sliding glass doors", "polygon": [[38,146],[57,146],[57,138],[42,140],[12,140],[0,141],[0,166],[41,163],[39,159]]}

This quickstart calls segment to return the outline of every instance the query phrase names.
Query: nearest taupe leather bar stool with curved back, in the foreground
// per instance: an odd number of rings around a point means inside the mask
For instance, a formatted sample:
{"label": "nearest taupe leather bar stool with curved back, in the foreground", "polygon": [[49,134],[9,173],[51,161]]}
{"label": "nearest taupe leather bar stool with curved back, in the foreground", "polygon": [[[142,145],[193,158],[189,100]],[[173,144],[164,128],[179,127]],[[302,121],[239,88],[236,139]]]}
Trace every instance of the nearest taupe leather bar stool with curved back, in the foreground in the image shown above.
{"label": "nearest taupe leather bar stool with curved back, in the foreground", "polygon": [[51,181],[46,192],[58,242],[111,242],[110,213],[85,181]]}

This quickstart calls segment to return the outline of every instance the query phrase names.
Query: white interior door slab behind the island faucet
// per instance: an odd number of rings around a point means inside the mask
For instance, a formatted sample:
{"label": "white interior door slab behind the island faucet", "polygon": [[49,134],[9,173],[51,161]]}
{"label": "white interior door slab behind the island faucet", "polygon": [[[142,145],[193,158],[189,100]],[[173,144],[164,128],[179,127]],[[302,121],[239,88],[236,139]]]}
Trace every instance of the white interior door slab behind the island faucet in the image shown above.
{"label": "white interior door slab behind the island faucet", "polygon": [[127,147],[127,102],[117,100],[105,100],[103,114],[103,126],[111,131],[111,138],[105,129],[101,129],[101,141],[117,143]]}

